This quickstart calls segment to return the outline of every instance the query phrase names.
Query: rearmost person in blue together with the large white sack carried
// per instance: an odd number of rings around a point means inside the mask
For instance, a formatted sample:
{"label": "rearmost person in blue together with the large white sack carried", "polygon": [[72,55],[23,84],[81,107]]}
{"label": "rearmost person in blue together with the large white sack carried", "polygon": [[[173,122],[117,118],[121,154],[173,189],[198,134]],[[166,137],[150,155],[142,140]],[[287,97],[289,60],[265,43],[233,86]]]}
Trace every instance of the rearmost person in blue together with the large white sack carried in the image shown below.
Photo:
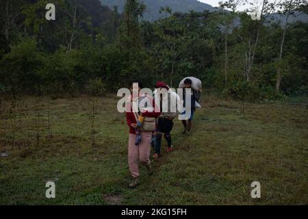
{"label": "rearmost person in blue together with the large white sack carried", "polygon": [[[190,110],[190,116],[188,118],[182,119],[183,123],[183,134],[190,134],[190,129],[192,128],[192,119],[194,118],[194,112],[196,112],[196,108],[201,107],[201,105],[198,103],[198,99],[201,96],[201,90],[202,90],[202,83],[200,79],[197,79],[196,77],[185,77],[180,84],[179,88],[183,89],[183,107],[185,108],[185,111],[182,113],[182,115],[189,114],[188,110]],[[190,104],[186,104],[186,94],[185,94],[185,88],[191,88],[191,98],[190,98]],[[190,105],[190,109],[188,107]],[[188,121],[186,121],[188,120]]]}

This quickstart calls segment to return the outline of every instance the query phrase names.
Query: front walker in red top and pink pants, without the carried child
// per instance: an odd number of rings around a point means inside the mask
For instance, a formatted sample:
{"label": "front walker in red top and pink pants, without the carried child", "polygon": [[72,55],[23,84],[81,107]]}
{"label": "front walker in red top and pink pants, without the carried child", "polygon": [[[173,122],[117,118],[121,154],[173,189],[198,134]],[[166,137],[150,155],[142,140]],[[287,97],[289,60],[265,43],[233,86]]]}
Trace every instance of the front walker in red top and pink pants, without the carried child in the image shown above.
{"label": "front walker in red top and pink pants, without the carried child", "polygon": [[[133,86],[137,86],[138,89],[133,89]],[[129,170],[131,172],[131,177],[133,178],[131,183],[129,184],[129,188],[136,188],[139,183],[139,167],[138,162],[141,162],[146,166],[149,175],[153,175],[153,168],[151,166],[150,161],[150,152],[151,152],[151,140],[152,140],[152,131],[140,131],[141,141],[136,145],[137,137],[136,137],[136,130],[138,129],[138,116],[134,115],[133,106],[136,105],[137,99],[142,98],[149,98],[149,103],[153,103],[153,108],[155,107],[154,99],[151,99],[149,96],[138,95],[140,90],[142,89],[142,83],[138,80],[133,80],[130,83],[131,88],[131,97],[129,99],[129,103],[126,105],[126,119],[127,125],[129,126],[129,146],[128,146],[128,163],[129,163]],[[136,94],[137,99],[133,99],[135,95],[133,92],[138,90],[138,94]],[[157,111],[157,110],[156,110]],[[140,116],[150,117],[150,118],[157,118],[160,115],[160,112],[152,111],[145,111],[140,112]]]}

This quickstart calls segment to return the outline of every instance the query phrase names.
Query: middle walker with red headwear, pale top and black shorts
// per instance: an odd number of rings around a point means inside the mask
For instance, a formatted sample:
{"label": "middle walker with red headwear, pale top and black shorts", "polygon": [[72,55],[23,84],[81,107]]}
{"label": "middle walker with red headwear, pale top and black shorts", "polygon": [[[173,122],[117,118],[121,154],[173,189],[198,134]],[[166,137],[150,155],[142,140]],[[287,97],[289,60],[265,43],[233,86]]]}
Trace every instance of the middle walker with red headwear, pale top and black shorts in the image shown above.
{"label": "middle walker with red headwear, pale top and black shorts", "polygon": [[[158,89],[154,92],[155,101],[157,101],[156,99],[160,101],[160,112],[162,112],[162,114],[157,119],[155,153],[153,154],[153,158],[157,159],[160,156],[163,135],[168,144],[167,151],[173,151],[170,131],[174,125],[172,120],[175,118],[175,116],[177,116],[176,104],[178,103],[178,105],[181,107],[181,99],[176,92],[173,92],[168,86],[166,86],[166,83],[162,81],[158,81],[155,88]],[[157,97],[157,95],[159,95],[159,97]],[[171,101],[171,99],[173,99],[173,101]]]}

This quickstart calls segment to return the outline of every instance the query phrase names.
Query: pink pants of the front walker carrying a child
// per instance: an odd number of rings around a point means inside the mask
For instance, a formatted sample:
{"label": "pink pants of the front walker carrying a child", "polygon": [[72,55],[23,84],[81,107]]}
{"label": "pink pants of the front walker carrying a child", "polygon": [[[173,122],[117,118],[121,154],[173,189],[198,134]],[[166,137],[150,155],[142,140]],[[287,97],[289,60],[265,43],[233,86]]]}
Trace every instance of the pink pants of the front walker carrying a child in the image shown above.
{"label": "pink pants of the front walker carrying a child", "polygon": [[136,135],[129,133],[129,170],[131,171],[131,176],[133,178],[139,177],[138,162],[142,162],[144,165],[149,165],[150,152],[151,152],[151,139],[152,132],[141,133],[142,142],[135,145]]}

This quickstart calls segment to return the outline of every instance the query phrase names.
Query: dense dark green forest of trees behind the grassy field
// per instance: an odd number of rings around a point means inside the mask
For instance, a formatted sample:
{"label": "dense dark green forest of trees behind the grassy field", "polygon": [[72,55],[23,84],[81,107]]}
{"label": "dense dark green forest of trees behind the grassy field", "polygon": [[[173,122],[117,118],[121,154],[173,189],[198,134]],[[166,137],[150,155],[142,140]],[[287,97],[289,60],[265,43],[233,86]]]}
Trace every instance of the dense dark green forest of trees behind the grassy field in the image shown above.
{"label": "dense dark green forest of trees behind the grassy field", "polygon": [[[55,21],[45,18],[47,3],[55,4]],[[0,92],[101,95],[133,78],[176,88],[195,76],[236,99],[307,95],[308,23],[287,23],[295,10],[307,13],[307,2],[275,5],[285,23],[266,21],[274,6],[267,1],[260,20],[232,11],[233,3],[221,5],[228,12],[161,8],[166,16],[151,23],[138,0],[127,0],[123,14],[99,0],[3,0]]]}

